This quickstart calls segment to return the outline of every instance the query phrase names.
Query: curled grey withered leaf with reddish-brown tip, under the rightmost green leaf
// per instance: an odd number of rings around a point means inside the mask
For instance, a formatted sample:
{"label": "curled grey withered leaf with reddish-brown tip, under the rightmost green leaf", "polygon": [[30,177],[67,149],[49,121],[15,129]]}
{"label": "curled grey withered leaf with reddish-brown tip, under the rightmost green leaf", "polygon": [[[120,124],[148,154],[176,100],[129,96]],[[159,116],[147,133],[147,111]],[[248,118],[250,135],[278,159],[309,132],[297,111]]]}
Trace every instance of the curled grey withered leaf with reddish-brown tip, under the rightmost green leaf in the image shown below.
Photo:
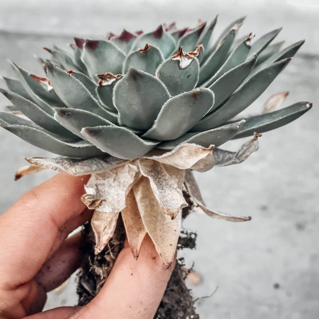
{"label": "curled grey withered leaf with reddish-brown tip, under the rightmost green leaf", "polygon": [[255,133],[254,137],[241,145],[237,152],[230,152],[216,148],[214,150],[215,166],[228,166],[243,162],[250,154],[258,150],[258,137],[260,136],[261,134]]}

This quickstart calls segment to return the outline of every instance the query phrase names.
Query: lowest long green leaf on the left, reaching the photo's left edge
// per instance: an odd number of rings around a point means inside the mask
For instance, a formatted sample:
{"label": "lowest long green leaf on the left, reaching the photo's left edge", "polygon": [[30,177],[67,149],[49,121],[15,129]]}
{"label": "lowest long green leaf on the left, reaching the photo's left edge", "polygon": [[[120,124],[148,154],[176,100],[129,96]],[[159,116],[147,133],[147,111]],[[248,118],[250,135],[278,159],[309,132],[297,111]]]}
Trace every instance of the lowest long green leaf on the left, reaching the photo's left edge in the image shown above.
{"label": "lowest long green leaf on the left, reaching the photo's left edge", "polygon": [[48,132],[24,125],[2,126],[24,141],[55,154],[70,157],[90,157],[102,153],[98,148],[87,141],[65,141],[49,135]]}

